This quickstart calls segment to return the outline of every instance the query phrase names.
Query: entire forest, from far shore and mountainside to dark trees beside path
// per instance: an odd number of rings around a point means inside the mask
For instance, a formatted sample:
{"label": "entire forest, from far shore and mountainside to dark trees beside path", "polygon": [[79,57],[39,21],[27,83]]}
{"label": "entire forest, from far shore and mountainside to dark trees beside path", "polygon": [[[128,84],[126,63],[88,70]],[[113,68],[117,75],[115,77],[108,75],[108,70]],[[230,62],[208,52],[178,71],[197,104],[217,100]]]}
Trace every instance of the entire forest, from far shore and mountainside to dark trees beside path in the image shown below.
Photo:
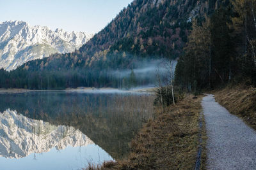
{"label": "entire forest, from far shore and mountainside to dark trees beside path", "polygon": [[[189,92],[227,82],[255,85],[255,1],[135,0],[72,53],[0,70],[0,88],[65,89],[153,83],[134,73],[152,59],[179,59],[175,83]],[[128,70],[126,76],[113,71]]]}

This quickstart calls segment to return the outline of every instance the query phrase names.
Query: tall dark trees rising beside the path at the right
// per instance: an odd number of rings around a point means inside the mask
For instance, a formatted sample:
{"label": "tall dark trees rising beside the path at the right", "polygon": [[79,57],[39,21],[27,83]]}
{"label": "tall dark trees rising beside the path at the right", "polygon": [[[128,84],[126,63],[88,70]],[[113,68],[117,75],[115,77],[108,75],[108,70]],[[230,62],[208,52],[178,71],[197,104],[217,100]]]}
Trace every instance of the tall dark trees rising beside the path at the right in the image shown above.
{"label": "tall dark trees rising beside the path at the right", "polygon": [[177,85],[189,92],[227,83],[255,86],[255,11],[255,1],[223,1],[205,20],[193,20],[175,71]]}

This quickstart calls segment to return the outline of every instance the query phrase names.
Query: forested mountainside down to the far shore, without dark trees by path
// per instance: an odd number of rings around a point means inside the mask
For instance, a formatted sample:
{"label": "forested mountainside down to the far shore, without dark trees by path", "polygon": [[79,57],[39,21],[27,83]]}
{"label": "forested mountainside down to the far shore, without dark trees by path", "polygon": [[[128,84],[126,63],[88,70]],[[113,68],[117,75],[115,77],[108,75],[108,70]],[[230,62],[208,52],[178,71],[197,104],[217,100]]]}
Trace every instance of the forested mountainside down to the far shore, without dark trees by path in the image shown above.
{"label": "forested mountainside down to the far shore, without dark trees by path", "polygon": [[140,60],[179,57],[191,20],[202,20],[216,4],[216,0],[135,0],[79,50],[2,73],[7,83],[1,85],[29,89],[122,87],[129,80],[116,78],[109,70],[136,69]]}

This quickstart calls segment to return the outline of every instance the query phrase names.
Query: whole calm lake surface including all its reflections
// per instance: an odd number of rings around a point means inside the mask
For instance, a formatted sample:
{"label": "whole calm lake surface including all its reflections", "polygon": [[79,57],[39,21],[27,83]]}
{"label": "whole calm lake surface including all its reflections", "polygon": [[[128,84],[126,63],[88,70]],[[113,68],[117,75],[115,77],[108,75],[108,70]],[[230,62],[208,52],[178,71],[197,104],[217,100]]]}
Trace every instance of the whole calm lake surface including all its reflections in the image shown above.
{"label": "whole calm lake surface including all its reflections", "polygon": [[0,94],[0,169],[82,169],[125,157],[154,96],[118,90]]}

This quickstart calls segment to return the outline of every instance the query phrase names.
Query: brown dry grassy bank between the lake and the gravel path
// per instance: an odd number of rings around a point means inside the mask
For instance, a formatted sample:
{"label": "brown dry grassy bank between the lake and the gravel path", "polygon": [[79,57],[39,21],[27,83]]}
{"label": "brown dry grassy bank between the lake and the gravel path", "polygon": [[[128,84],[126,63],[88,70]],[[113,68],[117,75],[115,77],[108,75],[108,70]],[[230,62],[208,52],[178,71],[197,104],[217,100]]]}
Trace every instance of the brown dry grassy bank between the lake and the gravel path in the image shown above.
{"label": "brown dry grassy bank between the lake and the gravel path", "polygon": [[[201,99],[188,96],[175,106],[157,108],[154,120],[149,120],[131,142],[127,159],[94,169],[195,169]],[[204,124],[202,138],[201,169],[205,169]]]}

